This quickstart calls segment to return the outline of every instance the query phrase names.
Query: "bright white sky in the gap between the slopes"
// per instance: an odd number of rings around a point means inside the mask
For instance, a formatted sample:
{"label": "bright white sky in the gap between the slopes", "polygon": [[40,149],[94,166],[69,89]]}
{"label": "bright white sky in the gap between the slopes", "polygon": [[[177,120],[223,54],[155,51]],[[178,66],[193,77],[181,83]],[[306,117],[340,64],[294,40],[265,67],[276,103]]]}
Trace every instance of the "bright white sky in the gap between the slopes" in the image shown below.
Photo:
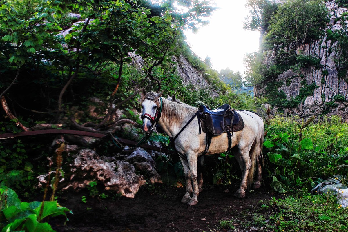
{"label": "bright white sky in the gap between the slopes", "polygon": [[248,15],[246,0],[213,0],[216,10],[207,20],[210,24],[201,27],[197,34],[185,31],[187,42],[203,61],[211,58],[212,67],[217,71],[227,67],[244,73],[245,53],[259,50],[259,32],[243,30],[244,18]]}

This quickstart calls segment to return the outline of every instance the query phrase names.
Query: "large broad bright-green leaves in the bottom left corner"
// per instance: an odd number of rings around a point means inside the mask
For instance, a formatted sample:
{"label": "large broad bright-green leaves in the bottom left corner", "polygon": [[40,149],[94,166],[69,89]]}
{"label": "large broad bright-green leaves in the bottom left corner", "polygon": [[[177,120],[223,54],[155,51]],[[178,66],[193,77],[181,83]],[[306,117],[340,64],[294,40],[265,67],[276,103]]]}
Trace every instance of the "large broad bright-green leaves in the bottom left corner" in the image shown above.
{"label": "large broad bright-green leaves in the bottom left corner", "polygon": [[48,217],[56,217],[72,212],[61,207],[57,201],[21,202],[12,189],[0,187],[0,229],[2,231],[54,231],[47,223]]}

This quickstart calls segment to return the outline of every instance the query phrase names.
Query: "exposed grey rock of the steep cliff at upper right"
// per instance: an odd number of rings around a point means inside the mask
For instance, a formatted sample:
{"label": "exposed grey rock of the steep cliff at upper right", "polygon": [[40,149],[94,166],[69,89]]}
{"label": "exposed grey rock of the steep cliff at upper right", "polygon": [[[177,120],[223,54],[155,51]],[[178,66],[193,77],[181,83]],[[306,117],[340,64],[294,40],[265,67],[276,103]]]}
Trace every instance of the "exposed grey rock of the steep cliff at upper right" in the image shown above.
{"label": "exposed grey rock of the steep cliff at upper right", "polygon": [[[317,58],[320,65],[289,69],[275,79],[278,92],[284,92],[287,101],[303,94],[304,90],[308,94],[304,95],[304,101],[297,106],[289,104],[290,106],[281,110],[278,109],[279,106],[276,109],[284,111],[285,114],[299,114],[301,117],[339,114],[348,120],[348,75],[347,69],[342,69],[340,64],[340,59],[345,54],[342,55],[342,43],[334,36],[336,32],[344,30],[342,25],[344,27],[347,21],[342,16],[348,14],[348,9],[338,7],[333,0],[326,2],[326,8],[330,22],[327,23],[323,37],[296,48],[296,54]],[[269,67],[275,63],[280,47],[281,45],[274,45],[273,50],[264,51],[264,64]],[[267,87],[263,85],[255,89],[255,94],[266,95],[266,91]]]}

